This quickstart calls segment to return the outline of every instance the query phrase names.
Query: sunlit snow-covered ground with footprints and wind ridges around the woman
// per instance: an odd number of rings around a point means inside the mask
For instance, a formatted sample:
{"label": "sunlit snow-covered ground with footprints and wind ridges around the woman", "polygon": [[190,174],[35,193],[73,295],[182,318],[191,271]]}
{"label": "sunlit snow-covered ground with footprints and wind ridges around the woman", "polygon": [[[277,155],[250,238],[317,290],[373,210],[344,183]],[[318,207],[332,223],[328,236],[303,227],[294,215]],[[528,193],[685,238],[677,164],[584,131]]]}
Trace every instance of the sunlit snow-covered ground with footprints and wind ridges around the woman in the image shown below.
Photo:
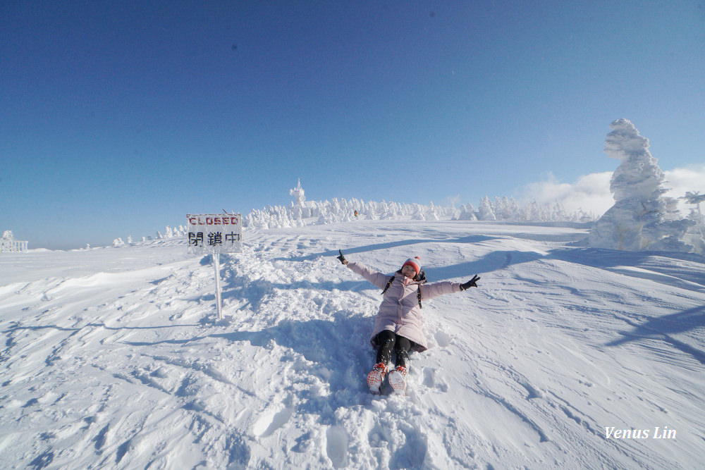
{"label": "sunlit snow-covered ground with footprints and wind ridges around the woman", "polygon": [[[705,258],[585,237],[250,230],[221,256],[223,321],[209,257],[183,240],[3,254],[0,467],[702,468]],[[338,248],[388,273],[418,255],[429,280],[482,276],[424,303],[434,347],[412,354],[407,397],[364,385],[381,297]]]}

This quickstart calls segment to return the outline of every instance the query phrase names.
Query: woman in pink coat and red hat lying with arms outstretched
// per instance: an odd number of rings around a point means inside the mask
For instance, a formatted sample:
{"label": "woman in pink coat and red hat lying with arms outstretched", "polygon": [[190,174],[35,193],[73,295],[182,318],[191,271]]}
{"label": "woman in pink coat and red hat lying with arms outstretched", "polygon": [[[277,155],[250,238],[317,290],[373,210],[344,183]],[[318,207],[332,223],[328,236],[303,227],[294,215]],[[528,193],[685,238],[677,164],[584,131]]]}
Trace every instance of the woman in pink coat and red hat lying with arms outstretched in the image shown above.
{"label": "woman in pink coat and red hat lying with arms outstretched", "polygon": [[383,289],[384,299],[379,305],[370,338],[372,346],[377,348],[377,359],[374,368],[367,374],[369,391],[375,395],[379,394],[382,381],[388,373],[387,364],[394,351],[396,369],[389,372],[389,385],[394,392],[404,393],[409,352],[423,352],[428,349],[422,328],[422,300],[477,287],[479,277],[476,275],[465,284],[450,281],[426,284],[426,276],[418,256],[407,259],[401,269],[390,277],[373,271],[362,263],[350,263],[343,256],[343,252],[338,252],[341,254],[338,259],[348,266],[348,269]]}

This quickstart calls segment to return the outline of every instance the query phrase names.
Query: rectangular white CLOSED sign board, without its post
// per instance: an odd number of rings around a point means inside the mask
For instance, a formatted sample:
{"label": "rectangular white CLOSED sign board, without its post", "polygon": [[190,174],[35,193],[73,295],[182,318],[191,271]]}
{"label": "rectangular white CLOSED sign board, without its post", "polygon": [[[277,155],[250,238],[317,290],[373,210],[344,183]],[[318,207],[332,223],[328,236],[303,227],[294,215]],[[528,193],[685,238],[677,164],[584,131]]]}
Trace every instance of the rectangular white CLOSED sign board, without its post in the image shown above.
{"label": "rectangular white CLOSED sign board, without its post", "polygon": [[243,251],[240,214],[188,214],[188,252],[191,254]]}

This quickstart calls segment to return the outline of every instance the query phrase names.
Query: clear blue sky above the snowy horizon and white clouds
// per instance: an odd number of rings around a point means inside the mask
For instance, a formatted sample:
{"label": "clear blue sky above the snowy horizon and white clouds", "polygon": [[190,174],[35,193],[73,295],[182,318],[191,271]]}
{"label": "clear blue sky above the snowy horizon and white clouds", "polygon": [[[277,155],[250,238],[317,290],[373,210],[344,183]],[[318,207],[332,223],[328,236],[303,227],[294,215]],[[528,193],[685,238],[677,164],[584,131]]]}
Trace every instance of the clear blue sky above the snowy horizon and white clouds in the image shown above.
{"label": "clear blue sky above the snowy horizon and white clouds", "polygon": [[0,230],[54,249],[307,199],[705,163],[705,1],[1,1]]}

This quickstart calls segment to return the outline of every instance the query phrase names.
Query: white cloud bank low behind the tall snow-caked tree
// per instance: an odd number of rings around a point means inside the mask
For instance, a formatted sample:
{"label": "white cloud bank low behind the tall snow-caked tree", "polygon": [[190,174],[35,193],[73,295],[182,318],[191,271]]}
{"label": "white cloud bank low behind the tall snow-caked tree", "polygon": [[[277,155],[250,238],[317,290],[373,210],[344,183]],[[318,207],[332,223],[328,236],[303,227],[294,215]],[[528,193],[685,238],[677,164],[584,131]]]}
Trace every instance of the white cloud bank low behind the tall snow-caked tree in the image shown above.
{"label": "white cloud bank low behind the tall snow-caked tree", "polygon": [[[675,168],[663,173],[666,175],[663,186],[670,188],[666,196],[681,197],[687,191],[705,194],[705,165]],[[583,175],[575,183],[560,183],[553,173],[548,173],[546,180],[526,185],[522,199],[524,202],[535,199],[540,204],[558,201],[568,212],[582,209],[601,216],[614,204],[610,178],[612,172],[608,171]],[[686,207],[682,204],[682,209]]]}

